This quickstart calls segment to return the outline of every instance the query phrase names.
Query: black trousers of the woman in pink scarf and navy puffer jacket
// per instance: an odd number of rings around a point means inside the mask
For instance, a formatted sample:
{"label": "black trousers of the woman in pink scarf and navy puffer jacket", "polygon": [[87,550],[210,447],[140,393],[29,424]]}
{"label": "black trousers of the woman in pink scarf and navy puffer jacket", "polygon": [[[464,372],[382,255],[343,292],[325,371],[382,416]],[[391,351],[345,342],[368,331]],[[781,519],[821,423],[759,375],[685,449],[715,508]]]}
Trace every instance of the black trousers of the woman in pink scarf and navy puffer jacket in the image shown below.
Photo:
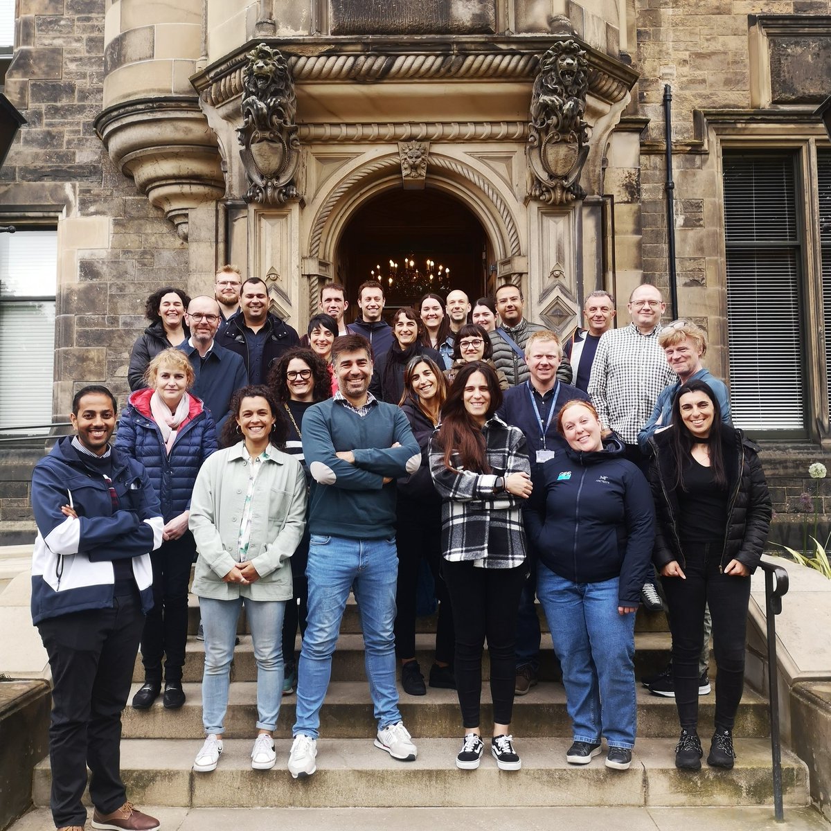
{"label": "black trousers of the woman in pink scarf and navy puffer jacket", "polygon": [[153,608],[141,633],[141,662],[145,681],[160,682],[165,658],[165,681],[181,681],[184,647],[188,642],[188,583],[196,541],[185,531],[150,552],[153,565]]}

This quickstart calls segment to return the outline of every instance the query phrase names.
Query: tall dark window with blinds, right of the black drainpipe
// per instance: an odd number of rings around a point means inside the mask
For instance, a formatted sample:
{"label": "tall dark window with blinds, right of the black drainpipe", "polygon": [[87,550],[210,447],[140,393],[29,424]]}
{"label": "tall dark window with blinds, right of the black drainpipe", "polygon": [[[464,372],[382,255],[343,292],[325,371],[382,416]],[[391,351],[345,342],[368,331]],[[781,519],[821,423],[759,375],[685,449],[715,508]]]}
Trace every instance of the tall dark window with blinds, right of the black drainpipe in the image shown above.
{"label": "tall dark window with blinds, right of the black drainpipe", "polygon": [[725,152],[727,332],[733,423],[804,435],[802,238],[793,154]]}

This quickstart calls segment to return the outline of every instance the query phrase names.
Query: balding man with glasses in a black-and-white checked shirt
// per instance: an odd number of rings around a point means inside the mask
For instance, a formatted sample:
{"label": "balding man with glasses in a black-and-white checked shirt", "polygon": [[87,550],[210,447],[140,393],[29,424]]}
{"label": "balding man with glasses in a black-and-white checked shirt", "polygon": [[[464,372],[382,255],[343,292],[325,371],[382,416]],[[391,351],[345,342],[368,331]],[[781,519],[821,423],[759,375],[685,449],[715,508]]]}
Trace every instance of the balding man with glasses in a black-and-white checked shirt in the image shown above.
{"label": "balding man with glasses in a black-and-white checked shirt", "polygon": [[[632,322],[610,329],[597,344],[588,381],[588,394],[605,430],[614,430],[623,442],[626,457],[647,474],[648,460],[637,444],[637,434],[649,420],[661,390],[676,375],[658,344],[661,315],[666,303],[651,283],[642,283],[629,297]],[[641,594],[651,611],[663,607],[655,584],[644,584]]]}

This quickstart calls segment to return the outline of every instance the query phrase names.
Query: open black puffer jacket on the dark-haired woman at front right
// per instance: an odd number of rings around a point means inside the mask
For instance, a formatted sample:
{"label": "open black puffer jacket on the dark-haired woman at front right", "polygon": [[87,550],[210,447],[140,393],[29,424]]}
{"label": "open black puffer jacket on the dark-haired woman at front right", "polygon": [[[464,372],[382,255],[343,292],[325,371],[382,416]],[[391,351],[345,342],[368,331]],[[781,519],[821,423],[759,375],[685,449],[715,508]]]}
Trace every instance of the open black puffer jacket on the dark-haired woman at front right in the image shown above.
{"label": "open black puffer jacket on the dark-haired woman at front right", "polygon": [[[666,563],[677,560],[686,568],[681,540],[678,537],[680,513],[676,494],[677,470],[670,438],[674,426],[652,435],[649,444],[654,456],[649,468],[649,482],[655,499],[657,524],[652,561],[660,571]],[[727,533],[721,554],[720,570],[730,560],[754,572],[759,565],[770,532],[770,493],[765,471],[759,460],[759,448],[745,438],[741,430],[722,426],[722,453],[728,482]]]}

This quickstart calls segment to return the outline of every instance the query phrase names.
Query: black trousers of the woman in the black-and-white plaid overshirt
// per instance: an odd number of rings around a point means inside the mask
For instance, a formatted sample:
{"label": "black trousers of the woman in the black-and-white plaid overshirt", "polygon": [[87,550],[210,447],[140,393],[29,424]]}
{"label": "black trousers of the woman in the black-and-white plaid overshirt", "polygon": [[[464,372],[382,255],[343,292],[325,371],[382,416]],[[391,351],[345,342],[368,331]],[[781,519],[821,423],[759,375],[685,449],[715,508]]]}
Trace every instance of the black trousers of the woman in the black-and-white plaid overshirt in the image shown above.
{"label": "black trousers of the woman in the black-and-white plaid overshirt", "polygon": [[490,696],[494,724],[508,725],[514,710],[519,595],[528,567],[476,568],[473,563],[442,563],[456,632],[456,691],[465,729],[479,727],[482,648],[488,641]]}

